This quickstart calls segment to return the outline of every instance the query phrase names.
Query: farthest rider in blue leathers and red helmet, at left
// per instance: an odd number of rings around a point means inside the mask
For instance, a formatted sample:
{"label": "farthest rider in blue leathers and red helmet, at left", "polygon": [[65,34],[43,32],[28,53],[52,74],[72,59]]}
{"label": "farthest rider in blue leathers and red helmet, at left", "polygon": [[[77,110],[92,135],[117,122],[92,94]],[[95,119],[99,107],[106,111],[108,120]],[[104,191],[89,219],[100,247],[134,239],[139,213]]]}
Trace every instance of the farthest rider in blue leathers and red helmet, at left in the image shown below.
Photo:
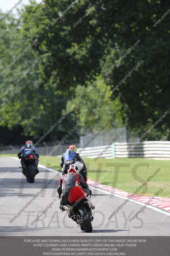
{"label": "farthest rider in blue leathers and red helmet, at left", "polygon": [[33,153],[37,157],[37,160],[35,161],[35,173],[36,174],[39,173],[39,170],[38,170],[39,155],[37,153],[37,150],[33,147],[33,142],[31,140],[27,140],[26,145],[21,147],[21,149],[18,153],[18,158],[21,159],[22,173],[24,175],[26,175],[26,165],[23,161],[23,159],[24,159],[23,156],[26,156],[27,154],[30,154],[30,153]]}

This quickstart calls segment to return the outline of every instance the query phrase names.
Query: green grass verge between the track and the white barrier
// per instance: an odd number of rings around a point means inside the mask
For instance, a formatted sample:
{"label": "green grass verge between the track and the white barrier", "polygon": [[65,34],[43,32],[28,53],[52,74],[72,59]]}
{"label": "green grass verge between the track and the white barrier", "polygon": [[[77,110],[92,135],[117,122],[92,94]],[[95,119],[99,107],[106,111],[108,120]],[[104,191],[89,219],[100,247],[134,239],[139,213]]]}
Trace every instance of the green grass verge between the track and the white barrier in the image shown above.
{"label": "green grass verge between the track and the white barrier", "polygon": [[[16,155],[1,155],[16,156]],[[44,156],[40,156],[40,164],[61,170],[60,157],[50,156],[43,161]],[[143,158],[100,158],[94,162],[91,158],[83,158],[87,165],[88,179],[100,182],[101,184],[122,189],[129,193],[139,188],[158,168],[160,171],[147,183],[147,187],[142,188],[138,195],[154,196],[162,189],[159,196],[170,197],[170,161],[168,160],[149,160]],[[125,165],[115,171],[112,164]],[[110,171],[108,171],[110,169]],[[133,170],[133,173],[132,173]]]}

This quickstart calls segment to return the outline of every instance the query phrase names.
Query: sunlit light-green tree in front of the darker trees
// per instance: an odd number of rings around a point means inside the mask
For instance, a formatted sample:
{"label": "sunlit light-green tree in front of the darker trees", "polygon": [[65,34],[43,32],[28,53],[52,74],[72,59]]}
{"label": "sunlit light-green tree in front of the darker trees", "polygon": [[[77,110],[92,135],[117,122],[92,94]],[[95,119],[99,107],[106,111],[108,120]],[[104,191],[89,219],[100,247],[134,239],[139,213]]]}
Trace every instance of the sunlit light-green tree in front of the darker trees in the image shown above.
{"label": "sunlit light-green tree in front of the darker trees", "polygon": [[[78,85],[75,97],[67,102],[67,110],[73,104],[78,106],[74,109],[72,116],[76,124],[82,128],[82,134],[86,131],[88,133],[99,131],[122,107],[118,98],[114,101],[110,100],[110,86],[107,86],[104,80],[95,87],[95,92],[89,92],[91,86],[89,82],[87,82],[87,87]],[[122,115],[119,115],[107,129],[122,126]]]}

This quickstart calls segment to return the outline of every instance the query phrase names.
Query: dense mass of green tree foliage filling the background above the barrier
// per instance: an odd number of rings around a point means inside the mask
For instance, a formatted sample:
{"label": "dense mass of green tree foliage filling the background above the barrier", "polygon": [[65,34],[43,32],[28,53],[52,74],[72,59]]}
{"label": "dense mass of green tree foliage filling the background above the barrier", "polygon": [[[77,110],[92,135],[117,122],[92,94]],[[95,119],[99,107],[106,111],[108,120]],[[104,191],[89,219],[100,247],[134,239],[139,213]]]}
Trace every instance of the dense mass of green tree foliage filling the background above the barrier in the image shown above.
{"label": "dense mass of green tree foliage filling the background above the barrier", "polygon": [[[0,125],[26,101],[26,106],[6,125],[12,129],[26,123],[25,135],[37,137],[75,105],[51,132],[54,140],[56,134],[66,133],[73,125],[82,132],[99,130],[126,105],[112,126],[127,125],[141,135],[169,109],[170,14],[153,26],[169,9],[168,1],[42,3],[31,16],[37,6],[35,1],[20,10],[18,18],[10,14],[0,22],[0,73],[38,39],[0,75]],[[86,12],[88,15],[82,19]],[[127,57],[120,60],[137,41]],[[106,74],[116,61],[117,66]],[[139,62],[140,66],[135,68]],[[35,67],[31,68],[33,63]],[[28,68],[31,70],[26,77],[5,93]],[[110,93],[130,70],[133,70],[131,76]],[[102,76],[98,85],[93,86]],[[168,114],[146,138],[159,140],[169,128]]]}

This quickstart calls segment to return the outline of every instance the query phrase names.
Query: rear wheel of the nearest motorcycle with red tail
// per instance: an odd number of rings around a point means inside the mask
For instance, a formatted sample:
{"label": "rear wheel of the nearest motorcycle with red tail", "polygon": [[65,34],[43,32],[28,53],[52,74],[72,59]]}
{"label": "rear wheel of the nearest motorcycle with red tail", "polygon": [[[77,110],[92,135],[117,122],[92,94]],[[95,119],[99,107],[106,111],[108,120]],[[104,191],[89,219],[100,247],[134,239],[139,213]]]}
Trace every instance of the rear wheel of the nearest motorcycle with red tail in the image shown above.
{"label": "rear wheel of the nearest motorcycle with red tail", "polygon": [[78,207],[78,211],[80,213],[81,221],[82,221],[82,225],[81,225],[82,227],[80,227],[81,230],[83,230],[82,228],[84,228],[86,233],[92,232],[92,230],[93,230],[92,229],[92,223],[90,221],[90,218],[88,216],[88,212],[87,212],[85,206],[84,205],[80,205]]}

